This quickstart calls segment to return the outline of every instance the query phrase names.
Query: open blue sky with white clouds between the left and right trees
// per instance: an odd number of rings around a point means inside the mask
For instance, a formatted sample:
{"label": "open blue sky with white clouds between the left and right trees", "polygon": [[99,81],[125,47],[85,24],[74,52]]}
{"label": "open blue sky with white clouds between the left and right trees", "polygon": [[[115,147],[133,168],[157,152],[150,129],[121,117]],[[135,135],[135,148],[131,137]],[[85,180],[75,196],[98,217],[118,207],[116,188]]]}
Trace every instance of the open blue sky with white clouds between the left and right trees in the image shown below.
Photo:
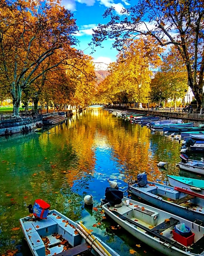
{"label": "open blue sky with white clouds between the left and right trees", "polygon": [[77,47],[84,51],[84,54],[91,55],[94,62],[110,63],[116,60],[117,50],[112,48],[111,40],[103,42],[101,47],[95,48],[96,51],[91,54],[91,47],[88,43],[91,42],[92,29],[96,29],[98,23],[105,24],[107,20],[103,19],[104,11],[111,6],[116,8],[118,14],[122,8],[129,8],[136,4],[137,1],[129,0],[62,0],[62,5],[71,10],[76,19],[76,25],[79,27],[77,38],[80,45]]}

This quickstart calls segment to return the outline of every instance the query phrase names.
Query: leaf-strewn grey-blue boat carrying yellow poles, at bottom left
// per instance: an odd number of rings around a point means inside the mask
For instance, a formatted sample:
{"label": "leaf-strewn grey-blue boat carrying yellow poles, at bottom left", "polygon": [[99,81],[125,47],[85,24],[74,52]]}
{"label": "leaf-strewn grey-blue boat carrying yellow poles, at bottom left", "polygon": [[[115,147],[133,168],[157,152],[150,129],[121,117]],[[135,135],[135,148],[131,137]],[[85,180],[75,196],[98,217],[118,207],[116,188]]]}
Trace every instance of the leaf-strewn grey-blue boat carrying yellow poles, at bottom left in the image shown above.
{"label": "leaf-strewn grey-blue boat carrying yellow poles, at bottom left", "polygon": [[21,218],[20,224],[34,256],[119,256],[84,225],[56,210],[49,211],[47,218],[42,220],[29,216]]}

